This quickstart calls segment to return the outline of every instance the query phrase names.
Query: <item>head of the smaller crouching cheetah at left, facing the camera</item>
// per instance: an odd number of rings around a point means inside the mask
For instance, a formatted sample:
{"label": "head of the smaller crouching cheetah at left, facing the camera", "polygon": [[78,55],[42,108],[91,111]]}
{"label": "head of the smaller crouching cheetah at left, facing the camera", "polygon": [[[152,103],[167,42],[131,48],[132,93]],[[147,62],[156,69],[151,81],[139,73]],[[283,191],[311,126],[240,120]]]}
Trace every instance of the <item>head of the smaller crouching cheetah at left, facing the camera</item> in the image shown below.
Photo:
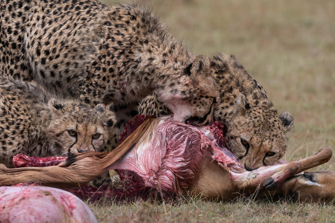
{"label": "head of the smaller crouching cheetah at left, facing the camera", "polygon": [[103,118],[105,105],[94,109],[77,102],[49,101],[51,113],[47,138],[52,141],[51,152],[68,155],[85,151],[103,151],[108,132]]}

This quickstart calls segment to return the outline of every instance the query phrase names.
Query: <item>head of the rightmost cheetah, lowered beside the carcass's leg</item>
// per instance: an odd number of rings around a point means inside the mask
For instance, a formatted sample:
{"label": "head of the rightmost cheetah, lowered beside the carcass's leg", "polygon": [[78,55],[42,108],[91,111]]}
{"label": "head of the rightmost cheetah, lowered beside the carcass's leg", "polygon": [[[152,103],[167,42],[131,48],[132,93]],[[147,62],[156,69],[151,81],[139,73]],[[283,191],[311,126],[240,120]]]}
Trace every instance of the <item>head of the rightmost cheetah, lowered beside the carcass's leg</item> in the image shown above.
{"label": "head of the rightmost cheetah, lowered beside the carcass's leg", "polygon": [[244,95],[239,95],[228,123],[226,146],[247,170],[271,165],[283,157],[292,126],[290,113],[278,116],[269,101],[249,107]]}

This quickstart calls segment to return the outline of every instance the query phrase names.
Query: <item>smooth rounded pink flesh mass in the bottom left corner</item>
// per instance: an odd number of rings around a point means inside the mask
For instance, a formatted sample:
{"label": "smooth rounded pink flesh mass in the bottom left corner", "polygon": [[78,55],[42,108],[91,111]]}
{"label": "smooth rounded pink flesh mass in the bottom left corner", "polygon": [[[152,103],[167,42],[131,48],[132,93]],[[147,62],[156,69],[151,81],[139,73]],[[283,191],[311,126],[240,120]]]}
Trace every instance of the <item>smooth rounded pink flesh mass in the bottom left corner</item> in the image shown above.
{"label": "smooth rounded pink flesh mass in the bottom left corner", "polygon": [[52,187],[0,187],[0,222],[97,222],[70,192]]}

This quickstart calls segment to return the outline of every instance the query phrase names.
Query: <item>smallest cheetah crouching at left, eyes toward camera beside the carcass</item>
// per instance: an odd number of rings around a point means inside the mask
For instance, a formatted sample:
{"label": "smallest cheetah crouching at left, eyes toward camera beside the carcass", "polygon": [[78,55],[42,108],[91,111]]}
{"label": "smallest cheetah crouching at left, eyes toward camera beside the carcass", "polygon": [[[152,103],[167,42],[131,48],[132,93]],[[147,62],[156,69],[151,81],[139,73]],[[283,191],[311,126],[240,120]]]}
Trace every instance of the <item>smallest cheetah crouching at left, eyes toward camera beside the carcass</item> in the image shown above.
{"label": "smallest cheetah crouching at left, eyes toward camera beside the carcass", "polygon": [[58,156],[103,151],[105,105],[61,100],[31,83],[0,77],[0,163],[14,155]]}

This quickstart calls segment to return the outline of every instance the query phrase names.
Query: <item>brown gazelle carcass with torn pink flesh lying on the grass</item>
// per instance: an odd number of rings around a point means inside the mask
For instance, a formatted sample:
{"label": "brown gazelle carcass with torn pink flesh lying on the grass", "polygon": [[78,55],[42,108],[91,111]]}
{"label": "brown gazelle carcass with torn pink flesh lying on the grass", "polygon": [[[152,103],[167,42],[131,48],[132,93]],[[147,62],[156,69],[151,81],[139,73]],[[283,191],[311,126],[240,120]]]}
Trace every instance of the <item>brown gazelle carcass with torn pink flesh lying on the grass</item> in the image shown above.
{"label": "brown gazelle carcass with torn pink flesh lying on the grass", "polygon": [[163,196],[191,193],[209,199],[233,199],[241,193],[259,190],[261,195],[272,190],[272,195],[297,195],[299,201],[334,198],[333,171],[296,176],[328,162],[332,157],[330,148],[296,162],[246,171],[221,146],[222,140],[223,134],[216,125],[195,127],[173,121],[171,116],[147,118],[110,153],[77,153],[54,167],[7,169],[1,165],[0,185],[34,181],[70,188],[93,180],[107,169],[118,169],[136,174],[144,187]]}

